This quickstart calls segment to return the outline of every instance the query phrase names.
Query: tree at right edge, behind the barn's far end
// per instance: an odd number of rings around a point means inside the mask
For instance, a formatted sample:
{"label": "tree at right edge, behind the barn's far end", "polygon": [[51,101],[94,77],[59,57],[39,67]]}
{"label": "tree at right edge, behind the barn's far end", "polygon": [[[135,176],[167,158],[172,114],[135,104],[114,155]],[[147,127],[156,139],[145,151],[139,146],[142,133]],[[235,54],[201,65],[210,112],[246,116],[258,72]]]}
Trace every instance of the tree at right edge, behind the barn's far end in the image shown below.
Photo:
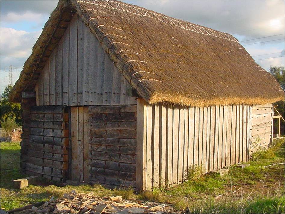
{"label": "tree at right edge, behind the barn's far end", "polygon": [[[272,76],[279,82],[281,88],[284,90],[284,67],[277,67],[277,66],[271,66],[269,71]],[[283,116],[284,118],[284,102],[283,101],[278,101],[274,103],[278,105],[276,107],[277,111]],[[276,127],[277,121],[275,121],[274,126]],[[280,126],[281,126],[281,133],[284,133],[284,121],[280,121]]]}

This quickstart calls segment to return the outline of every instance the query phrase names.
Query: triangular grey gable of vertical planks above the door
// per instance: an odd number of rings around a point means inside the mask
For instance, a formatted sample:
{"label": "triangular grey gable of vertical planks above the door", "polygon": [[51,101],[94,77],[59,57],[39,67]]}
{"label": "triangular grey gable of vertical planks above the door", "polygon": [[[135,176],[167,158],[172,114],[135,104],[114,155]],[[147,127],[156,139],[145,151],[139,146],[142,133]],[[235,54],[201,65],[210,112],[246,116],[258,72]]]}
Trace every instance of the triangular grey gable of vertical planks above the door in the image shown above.
{"label": "triangular grey gable of vertical planks above the door", "polygon": [[126,95],[129,83],[99,41],[74,15],[35,87],[37,105],[136,104]]}

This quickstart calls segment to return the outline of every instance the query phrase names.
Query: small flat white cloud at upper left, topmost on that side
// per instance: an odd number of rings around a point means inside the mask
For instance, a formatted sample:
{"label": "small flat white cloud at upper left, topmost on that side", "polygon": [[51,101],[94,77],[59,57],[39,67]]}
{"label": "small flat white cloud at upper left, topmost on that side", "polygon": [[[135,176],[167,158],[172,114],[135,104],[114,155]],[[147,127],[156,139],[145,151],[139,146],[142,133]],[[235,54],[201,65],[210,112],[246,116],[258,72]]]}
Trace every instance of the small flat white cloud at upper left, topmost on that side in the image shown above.
{"label": "small flat white cloud at upper left, topmost on that side", "polygon": [[25,13],[22,14],[18,14],[15,12],[8,12],[6,15],[1,17],[1,20],[5,22],[18,22],[18,21],[40,22],[42,18],[43,14],[26,11]]}

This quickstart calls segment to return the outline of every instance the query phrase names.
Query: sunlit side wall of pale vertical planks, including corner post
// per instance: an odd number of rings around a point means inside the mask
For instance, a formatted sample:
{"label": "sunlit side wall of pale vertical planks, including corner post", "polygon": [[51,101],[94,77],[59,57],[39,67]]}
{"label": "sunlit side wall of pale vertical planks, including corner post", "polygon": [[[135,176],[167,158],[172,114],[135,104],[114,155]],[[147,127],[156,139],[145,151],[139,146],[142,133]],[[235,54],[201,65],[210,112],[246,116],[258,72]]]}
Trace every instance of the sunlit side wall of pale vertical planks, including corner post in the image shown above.
{"label": "sunlit side wall of pale vertical planks, including corner post", "polygon": [[250,111],[246,105],[171,107],[138,99],[137,188],[181,183],[195,165],[211,172],[247,161]]}

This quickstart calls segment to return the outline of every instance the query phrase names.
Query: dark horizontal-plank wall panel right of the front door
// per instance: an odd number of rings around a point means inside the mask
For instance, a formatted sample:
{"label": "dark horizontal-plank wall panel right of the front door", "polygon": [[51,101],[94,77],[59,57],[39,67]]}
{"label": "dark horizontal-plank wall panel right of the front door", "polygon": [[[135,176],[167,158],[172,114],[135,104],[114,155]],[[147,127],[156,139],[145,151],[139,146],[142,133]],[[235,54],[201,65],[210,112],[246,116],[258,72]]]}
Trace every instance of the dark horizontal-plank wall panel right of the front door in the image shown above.
{"label": "dark horizontal-plank wall panel right of the front door", "polygon": [[89,107],[90,181],[135,187],[136,105]]}

